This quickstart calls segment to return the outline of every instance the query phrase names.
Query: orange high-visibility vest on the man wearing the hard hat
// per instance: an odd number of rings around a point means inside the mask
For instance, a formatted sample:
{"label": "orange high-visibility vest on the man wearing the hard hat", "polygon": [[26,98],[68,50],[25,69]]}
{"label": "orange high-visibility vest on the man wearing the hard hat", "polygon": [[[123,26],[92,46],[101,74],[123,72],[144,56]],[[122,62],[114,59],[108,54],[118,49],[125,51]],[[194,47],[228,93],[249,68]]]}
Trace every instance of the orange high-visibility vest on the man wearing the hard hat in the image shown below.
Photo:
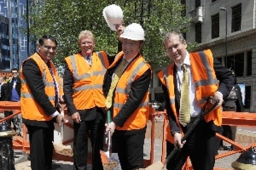
{"label": "orange high-visibility vest on the man wearing the hard hat", "polygon": [[[116,65],[117,61],[122,60],[124,53],[120,52],[116,56],[116,60],[110,66],[113,67]],[[115,117],[123,105],[126,103],[131,85],[134,81],[139,79],[150,67],[144,58],[140,55],[136,57],[129,66],[125,69],[122,76],[120,77],[115,90],[115,97],[113,103],[113,117]],[[123,127],[116,125],[117,130],[135,130],[142,129],[146,126],[149,116],[149,91],[146,92],[144,98],[142,99],[139,107],[133,114],[126,120]]]}

